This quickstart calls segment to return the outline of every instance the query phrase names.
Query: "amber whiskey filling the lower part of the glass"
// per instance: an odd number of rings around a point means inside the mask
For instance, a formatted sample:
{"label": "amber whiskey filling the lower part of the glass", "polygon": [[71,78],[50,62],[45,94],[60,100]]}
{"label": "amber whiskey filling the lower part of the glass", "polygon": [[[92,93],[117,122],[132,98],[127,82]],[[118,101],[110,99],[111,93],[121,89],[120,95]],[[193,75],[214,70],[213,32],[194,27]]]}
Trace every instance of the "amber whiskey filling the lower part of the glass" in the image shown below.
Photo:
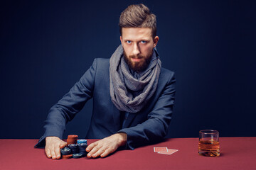
{"label": "amber whiskey filling the lower part of the glass", "polygon": [[220,156],[220,143],[213,140],[201,140],[198,143],[198,153],[206,157]]}

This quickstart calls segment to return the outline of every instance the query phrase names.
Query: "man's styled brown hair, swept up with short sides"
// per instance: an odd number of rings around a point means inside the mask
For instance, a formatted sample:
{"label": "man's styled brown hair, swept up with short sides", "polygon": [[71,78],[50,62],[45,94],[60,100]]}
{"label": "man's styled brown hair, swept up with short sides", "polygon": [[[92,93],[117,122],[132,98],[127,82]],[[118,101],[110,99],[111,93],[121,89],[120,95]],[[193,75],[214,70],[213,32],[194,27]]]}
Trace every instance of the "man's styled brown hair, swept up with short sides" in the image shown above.
{"label": "man's styled brown hair, swept up with short sides", "polygon": [[119,31],[122,28],[151,28],[152,37],[156,36],[156,16],[144,4],[130,5],[122,11],[119,18]]}

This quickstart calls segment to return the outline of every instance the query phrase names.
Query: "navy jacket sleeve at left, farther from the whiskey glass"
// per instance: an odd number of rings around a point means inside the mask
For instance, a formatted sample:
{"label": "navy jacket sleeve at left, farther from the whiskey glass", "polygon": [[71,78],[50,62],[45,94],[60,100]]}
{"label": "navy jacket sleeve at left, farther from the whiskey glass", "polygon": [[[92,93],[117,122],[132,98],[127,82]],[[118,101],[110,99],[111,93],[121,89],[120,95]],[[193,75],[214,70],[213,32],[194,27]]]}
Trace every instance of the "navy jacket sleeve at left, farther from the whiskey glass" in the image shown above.
{"label": "navy jacket sleeve at left, farther from the whiskey glass", "polygon": [[58,103],[50,108],[43,127],[45,133],[35,147],[43,147],[45,145],[45,138],[48,136],[60,137],[62,139],[65,125],[75,117],[76,113],[82,110],[86,101],[92,98],[96,68],[97,59],[94,60],[90,69],[83,74],[68,94],[65,94]]}

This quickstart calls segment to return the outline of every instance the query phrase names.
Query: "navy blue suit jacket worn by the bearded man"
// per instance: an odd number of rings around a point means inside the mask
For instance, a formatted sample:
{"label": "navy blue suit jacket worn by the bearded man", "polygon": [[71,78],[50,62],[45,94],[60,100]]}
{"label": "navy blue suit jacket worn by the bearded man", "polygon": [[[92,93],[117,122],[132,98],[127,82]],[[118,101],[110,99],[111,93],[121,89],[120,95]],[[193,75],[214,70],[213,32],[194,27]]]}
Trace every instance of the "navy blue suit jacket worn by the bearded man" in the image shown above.
{"label": "navy blue suit jacket worn by the bearded man", "polygon": [[110,59],[95,59],[80,81],[50,108],[44,126],[46,131],[38,145],[47,136],[61,139],[65,124],[82,110],[90,98],[93,99],[92,120],[86,138],[102,139],[117,132],[125,132],[129,149],[158,142],[166,136],[171,121],[175,81],[174,72],[162,68],[154,96],[142,111],[129,113],[122,126],[124,113],[114,106],[110,97]]}

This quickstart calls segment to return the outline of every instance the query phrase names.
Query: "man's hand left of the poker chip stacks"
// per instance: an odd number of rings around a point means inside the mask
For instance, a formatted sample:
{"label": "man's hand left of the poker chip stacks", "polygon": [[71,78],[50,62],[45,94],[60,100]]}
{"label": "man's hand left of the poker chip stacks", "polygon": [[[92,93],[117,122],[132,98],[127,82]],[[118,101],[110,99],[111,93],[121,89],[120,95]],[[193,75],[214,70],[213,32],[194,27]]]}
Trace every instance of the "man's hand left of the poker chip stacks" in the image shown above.
{"label": "man's hand left of the poker chip stacks", "polygon": [[67,145],[67,142],[59,137],[46,137],[46,156],[52,159],[60,159],[60,148]]}

